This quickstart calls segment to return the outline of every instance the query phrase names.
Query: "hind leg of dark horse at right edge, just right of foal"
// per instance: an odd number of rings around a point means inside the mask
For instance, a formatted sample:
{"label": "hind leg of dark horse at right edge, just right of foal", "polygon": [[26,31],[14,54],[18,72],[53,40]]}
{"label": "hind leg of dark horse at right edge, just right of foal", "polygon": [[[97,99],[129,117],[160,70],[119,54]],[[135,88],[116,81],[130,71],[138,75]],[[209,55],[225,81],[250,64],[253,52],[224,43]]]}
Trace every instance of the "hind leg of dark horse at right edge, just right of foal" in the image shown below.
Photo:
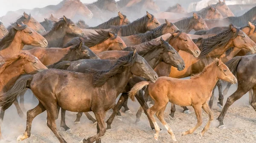
{"label": "hind leg of dark horse at right edge, just right of foal", "polygon": [[[245,81],[244,81],[245,82]],[[245,93],[247,93],[249,90],[251,89],[251,87],[246,87],[245,85],[243,87],[241,87],[241,85],[239,86],[238,85],[238,88],[237,90],[232,94],[230,95],[230,97],[227,98],[227,102],[226,104],[224,105],[224,108],[222,109],[221,111],[221,114],[218,116],[217,120],[220,122],[218,128],[219,129],[224,129],[225,126],[224,126],[224,123],[223,123],[223,119],[224,119],[224,116],[226,115],[227,113],[227,109],[235,102],[237,101],[238,99],[240,99]]]}

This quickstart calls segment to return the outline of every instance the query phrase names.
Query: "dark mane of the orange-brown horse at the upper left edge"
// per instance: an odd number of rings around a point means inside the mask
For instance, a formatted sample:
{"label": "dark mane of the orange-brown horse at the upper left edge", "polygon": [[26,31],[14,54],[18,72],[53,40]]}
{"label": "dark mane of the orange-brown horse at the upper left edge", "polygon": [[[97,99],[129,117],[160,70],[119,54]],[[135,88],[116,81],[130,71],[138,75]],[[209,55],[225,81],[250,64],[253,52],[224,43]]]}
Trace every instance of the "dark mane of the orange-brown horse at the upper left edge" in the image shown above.
{"label": "dark mane of the orange-brown horse at the upper left edge", "polygon": [[14,39],[17,31],[22,31],[27,27],[28,27],[27,25],[23,25],[23,24],[21,24],[21,26],[10,25],[8,27],[9,32],[3,37],[3,39],[0,40],[0,50],[8,48],[11,45],[12,40]]}

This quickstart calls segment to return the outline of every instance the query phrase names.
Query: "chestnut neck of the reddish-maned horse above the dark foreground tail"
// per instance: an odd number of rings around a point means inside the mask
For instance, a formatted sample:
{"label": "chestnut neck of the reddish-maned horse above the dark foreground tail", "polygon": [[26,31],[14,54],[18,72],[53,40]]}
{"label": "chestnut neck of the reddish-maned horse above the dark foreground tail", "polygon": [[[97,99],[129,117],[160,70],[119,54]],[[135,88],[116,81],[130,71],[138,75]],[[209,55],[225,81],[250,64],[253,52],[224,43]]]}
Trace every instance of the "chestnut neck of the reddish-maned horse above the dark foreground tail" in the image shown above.
{"label": "chestnut neck of the reddish-maned horse above the dark foreground tail", "polygon": [[[20,61],[20,60],[19,60]],[[15,62],[0,74],[0,93],[7,92],[21,74],[24,74],[23,62]]]}

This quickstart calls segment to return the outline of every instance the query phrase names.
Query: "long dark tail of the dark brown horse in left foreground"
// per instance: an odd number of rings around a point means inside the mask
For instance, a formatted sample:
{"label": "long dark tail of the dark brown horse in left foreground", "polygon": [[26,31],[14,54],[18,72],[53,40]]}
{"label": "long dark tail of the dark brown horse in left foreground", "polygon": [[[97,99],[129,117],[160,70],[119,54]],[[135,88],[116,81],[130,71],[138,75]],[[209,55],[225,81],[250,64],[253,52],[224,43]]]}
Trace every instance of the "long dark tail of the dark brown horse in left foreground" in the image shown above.
{"label": "long dark tail of the dark brown horse in left foreground", "polygon": [[34,75],[20,76],[10,90],[0,95],[0,107],[2,107],[3,110],[8,109],[20,93],[23,93],[26,87],[30,88],[30,82],[33,76]]}

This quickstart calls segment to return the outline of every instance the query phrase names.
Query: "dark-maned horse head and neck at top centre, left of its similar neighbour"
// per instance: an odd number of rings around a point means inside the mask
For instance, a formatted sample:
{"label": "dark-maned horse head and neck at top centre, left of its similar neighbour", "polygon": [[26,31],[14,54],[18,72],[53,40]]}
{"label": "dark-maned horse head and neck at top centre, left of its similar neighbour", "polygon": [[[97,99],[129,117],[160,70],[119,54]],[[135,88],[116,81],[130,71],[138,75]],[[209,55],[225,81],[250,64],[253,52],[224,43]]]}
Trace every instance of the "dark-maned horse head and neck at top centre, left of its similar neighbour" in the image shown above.
{"label": "dark-maned horse head and neck at top centre, left of its similar neighbour", "polygon": [[108,29],[111,26],[118,26],[118,25],[128,25],[130,24],[130,20],[126,17],[125,14],[122,14],[120,11],[118,11],[117,17],[112,17],[108,21],[95,26],[95,27],[87,27],[87,29]]}

